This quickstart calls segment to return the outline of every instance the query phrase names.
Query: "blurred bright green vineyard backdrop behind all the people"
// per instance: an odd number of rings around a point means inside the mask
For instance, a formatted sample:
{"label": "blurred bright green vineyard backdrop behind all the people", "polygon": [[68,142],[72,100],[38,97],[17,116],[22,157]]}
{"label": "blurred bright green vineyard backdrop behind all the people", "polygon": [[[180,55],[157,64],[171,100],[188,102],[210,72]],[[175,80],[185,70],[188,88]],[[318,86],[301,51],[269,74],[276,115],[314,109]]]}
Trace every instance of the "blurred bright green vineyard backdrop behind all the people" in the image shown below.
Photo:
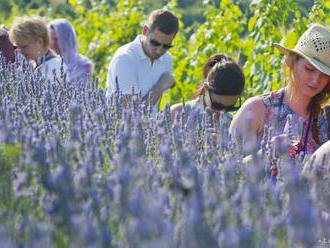
{"label": "blurred bright green vineyard backdrop behind all the people", "polygon": [[240,61],[247,78],[245,99],[277,89],[284,83],[282,57],[272,44],[293,47],[310,23],[330,23],[330,1],[326,0],[0,1],[0,22],[8,27],[19,15],[69,19],[78,33],[81,53],[95,63],[101,87],[112,55],[141,32],[150,11],[161,7],[173,10],[181,21],[170,51],[177,85],[164,95],[162,105],[191,98],[201,81],[203,63],[218,52]]}

